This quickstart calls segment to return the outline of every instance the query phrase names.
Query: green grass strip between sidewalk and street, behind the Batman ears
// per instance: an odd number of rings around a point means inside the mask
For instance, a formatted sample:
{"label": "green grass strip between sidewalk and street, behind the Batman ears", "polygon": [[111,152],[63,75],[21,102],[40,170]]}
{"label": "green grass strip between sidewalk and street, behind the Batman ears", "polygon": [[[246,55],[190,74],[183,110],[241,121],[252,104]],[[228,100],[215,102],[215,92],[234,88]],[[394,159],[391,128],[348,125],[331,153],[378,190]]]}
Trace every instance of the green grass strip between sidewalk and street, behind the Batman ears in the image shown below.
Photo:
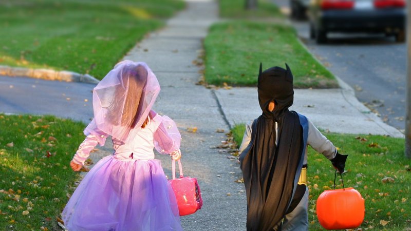
{"label": "green grass strip between sidewalk and street, behind the Batman ears", "polygon": [[300,43],[294,28],[287,25],[275,5],[261,2],[252,12],[264,9],[264,13],[254,14],[245,11],[242,2],[220,1],[221,16],[235,20],[214,24],[204,40],[204,78],[208,84],[255,86],[260,63],[263,69],[285,68],[287,63],[295,88],[338,87],[334,76]]}

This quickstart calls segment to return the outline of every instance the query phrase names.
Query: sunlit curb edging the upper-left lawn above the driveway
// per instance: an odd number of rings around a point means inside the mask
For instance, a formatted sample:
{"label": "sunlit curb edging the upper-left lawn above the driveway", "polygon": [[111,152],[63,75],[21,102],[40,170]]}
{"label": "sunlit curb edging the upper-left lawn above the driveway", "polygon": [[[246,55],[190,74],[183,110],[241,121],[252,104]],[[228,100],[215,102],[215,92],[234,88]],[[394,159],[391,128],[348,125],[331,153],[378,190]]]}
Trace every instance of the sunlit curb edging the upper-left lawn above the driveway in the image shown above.
{"label": "sunlit curb edging the upper-left lawn above the driveway", "polygon": [[55,71],[50,69],[32,69],[25,67],[9,67],[0,65],[0,75],[13,77],[27,77],[34,79],[81,82],[89,84],[98,84],[100,81],[89,74],[79,74],[72,71]]}

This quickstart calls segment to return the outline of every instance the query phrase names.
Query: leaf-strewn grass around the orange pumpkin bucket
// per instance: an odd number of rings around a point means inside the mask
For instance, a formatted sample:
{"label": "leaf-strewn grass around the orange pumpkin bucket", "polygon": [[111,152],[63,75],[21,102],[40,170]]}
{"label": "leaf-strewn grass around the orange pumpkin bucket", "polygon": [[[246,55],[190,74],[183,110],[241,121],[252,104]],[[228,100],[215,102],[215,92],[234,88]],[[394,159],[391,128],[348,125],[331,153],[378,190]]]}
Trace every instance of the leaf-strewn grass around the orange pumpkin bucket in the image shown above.
{"label": "leaf-strewn grass around the orange pumpkin bucket", "polygon": [[[233,137],[241,143],[244,124],[233,128]],[[339,152],[348,154],[345,187],[353,187],[365,199],[362,230],[411,229],[411,160],[404,156],[404,139],[385,136],[324,133]],[[383,183],[390,177],[394,182]],[[321,192],[332,189],[334,168],[322,154],[308,149],[309,230],[325,230],[317,220],[316,199]],[[341,180],[336,188],[342,188]],[[387,221],[386,225],[380,222]]]}

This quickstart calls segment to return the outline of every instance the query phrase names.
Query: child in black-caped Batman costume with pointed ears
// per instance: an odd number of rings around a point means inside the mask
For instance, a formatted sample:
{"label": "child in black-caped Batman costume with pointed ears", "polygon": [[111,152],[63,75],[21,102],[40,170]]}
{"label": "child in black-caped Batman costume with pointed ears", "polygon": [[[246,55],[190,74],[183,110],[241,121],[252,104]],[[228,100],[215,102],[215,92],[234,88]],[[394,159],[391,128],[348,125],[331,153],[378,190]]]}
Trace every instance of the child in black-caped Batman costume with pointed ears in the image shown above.
{"label": "child in black-caped Batman costume with pointed ears", "polygon": [[258,102],[263,113],[246,126],[240,167],[247,192],[247,230],[308,230],[307,145],[344,171],[347,156],[302,114],[290,111],[290,68],[272,67],[258,74]]}

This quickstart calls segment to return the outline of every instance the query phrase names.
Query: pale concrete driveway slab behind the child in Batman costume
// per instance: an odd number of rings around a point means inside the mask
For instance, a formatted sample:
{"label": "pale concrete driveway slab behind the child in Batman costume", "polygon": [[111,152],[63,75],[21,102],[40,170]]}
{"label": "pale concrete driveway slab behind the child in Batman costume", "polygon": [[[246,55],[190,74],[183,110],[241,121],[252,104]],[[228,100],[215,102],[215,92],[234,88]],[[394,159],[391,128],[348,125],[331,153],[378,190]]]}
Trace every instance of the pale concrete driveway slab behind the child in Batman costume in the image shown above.
{"label": "pale concrete driveway slab behind the child in Batman costume", "polygon": [[[339,89],[294,89],[294,104],[290,110],[306,115],[324,131],[404,138],[398,129],[384,123],[360,103],[350,86],[339,82]],[[230,127],[251,123],[261,114],[255,87],[220,89],[216,90],[216,95]]]}

